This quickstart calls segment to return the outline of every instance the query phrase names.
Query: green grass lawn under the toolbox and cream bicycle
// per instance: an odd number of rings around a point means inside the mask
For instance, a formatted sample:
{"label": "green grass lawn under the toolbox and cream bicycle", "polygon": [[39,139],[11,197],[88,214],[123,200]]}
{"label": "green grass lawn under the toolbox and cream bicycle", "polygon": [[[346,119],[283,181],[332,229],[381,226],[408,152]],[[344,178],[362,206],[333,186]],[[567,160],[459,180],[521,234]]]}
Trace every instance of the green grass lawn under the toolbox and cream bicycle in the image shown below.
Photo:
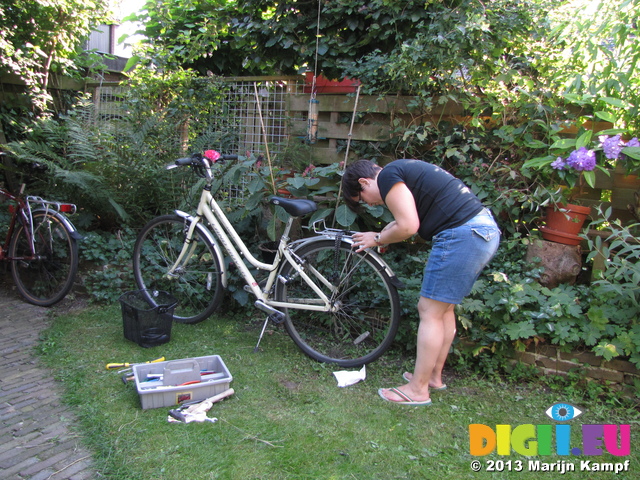
{"label": "green grass lawn under the toolbox and cream bicycle", "polygon": [[[253,353],[260,327],[257,315],[219,315],[198,325],[174,324],[169,343],[144,349],[124,339],[119,306],[90,307],[59,313],[43,334],[40,353],[62,382],[78,428],[109,479],[510,479],[529,475],[530,460],[541,462],[539,468],[544,462],[576,468],[544,473],[546,479],[614,478],[580,471],[586,460],[629,460],[628,470],[615,478],[640,476],[633,410],[583,405],[541,386],[460,372],[447,376],[447,391],[432,393],[432,406],[393,405],[377,389],[400,385],[411,358],[403,361],[391,351],[367,366],[366,381],[339,388],[330,365],[304,356],[277,327]],[[209,411],[217,423],[173,424],[168,407],[142,410],[135,385],[105,369],[109,362],[204,355],[220,355],[233,376],[235,394]],[[555,425],[545,411],[558,402],[573,402],[584,412],[567,422],[572,447],[582,444],[582,424],[631,424],[631,455],[470,455],[470,424],[494,430],[497,424]],[[471,468],[474,460],[481,462],[479,473]],[[491,466],[496,471],[487,471]]]}

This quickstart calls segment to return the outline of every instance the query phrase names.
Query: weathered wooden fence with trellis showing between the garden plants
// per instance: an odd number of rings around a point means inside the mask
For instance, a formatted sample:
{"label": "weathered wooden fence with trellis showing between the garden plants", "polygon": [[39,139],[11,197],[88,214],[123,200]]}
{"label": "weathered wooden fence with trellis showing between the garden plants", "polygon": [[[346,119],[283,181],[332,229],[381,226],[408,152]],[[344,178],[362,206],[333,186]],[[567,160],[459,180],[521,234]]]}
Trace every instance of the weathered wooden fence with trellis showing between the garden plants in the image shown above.
{"label": "weathered wooden fence with trellis showing between the garden plants", "polygon": [[[7,82],[6,78],[2,80],[15,88],[14,82]],[[271,153],[277,154],[296,141],[304,143],[308,133],[311,100],[304,77],[239,77],[229,78],[227,81],[229,94],[225,100],[225,111],[237,115],[236,124],[242,124],[239,130],[242,137],[239,151],[256,152],[264,148],[263,125]],[[67,83],[52,82],[52,87],[78,89],[77,84]],[[88,83],[81,88],[92,93],[96,118],[108,121],[123,113],[120,94],[126,86],[118,82],[99,82]],[[455,102],[417,110],[414,108],[415,97],[356,95],[356,85],[347,89],[349,93],[344,93],[343,88],[340,90],[341,93],[334,93],[331,87],[326,87],[322,91],[324,93],[315,96],[317,103],[314,107],[317,107],[318,112],[317,140],[311,145],[311,151],[316,163],[329,164],[345,160],[345,144],[349,140],[386,142],[396,135],[394,125],[408,127],[427,122],[437,124],[443,120],[465,120],[462,107]],[[416,114],[416,111],[420,113]],[[354,114],[357,122],[352,124]],[[177,131],[177,141],[183,141],[184,135],[184,131]],[[392,159],[391,155],[388,159]],[[611,176],[598,172],[596,188],[586,189],[581,203],[611,206],[615,217],[631,221],[634,217],[628,206],[636,204],[636,193],[639,191],[640,178],[635,175],[627,176],[620,169]]]}

